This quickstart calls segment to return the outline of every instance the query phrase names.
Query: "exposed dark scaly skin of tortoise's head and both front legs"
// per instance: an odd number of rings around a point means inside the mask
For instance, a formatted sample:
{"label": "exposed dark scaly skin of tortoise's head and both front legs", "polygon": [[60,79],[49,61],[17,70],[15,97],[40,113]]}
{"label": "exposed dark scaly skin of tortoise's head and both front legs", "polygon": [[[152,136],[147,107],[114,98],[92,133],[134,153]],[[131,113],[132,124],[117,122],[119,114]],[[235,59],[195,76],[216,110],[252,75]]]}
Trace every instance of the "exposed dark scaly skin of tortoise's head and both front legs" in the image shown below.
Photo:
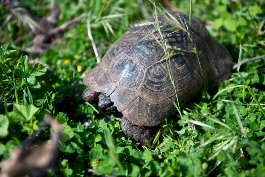
{"label": "exposed dark scaly skin of tortoise's head and both front legs", "polygon": [[[105,93],[95,92],[88,87],[84,90],[82,97],[85,101],[90,103],[95,103],[98,101],[98,108],[102,112],[112,113],[117,111],[113,101],[111,101],[110,97],[106,96]],[[142,143],[143,145],[152,145],[154,136],[147,127],[135,125],[133,122],[130,122],[128,119],[126,119],[125,116],[122,117],[120,125],[121,130],[128,137],[131,137],[133,140]]]}

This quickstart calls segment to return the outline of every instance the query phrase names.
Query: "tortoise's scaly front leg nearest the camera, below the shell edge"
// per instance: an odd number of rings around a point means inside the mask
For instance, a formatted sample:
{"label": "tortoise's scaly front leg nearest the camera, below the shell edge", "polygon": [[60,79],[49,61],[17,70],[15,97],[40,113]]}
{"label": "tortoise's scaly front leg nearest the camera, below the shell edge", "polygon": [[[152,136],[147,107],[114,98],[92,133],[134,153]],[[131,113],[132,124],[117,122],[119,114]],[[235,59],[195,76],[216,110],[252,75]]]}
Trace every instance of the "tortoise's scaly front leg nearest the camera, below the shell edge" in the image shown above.
{"label": "tortoise's scaly front leg nearest the camera, below the shell edge", "polygon": [[151,131],[145,126],[138,126],[130,122],[126,117],[122,117],[121,119],[121,130],[128,137],[131,137],[133,140],[142,143],[147,146],[147,142],[152,145],[154,136],[151,134]]}

